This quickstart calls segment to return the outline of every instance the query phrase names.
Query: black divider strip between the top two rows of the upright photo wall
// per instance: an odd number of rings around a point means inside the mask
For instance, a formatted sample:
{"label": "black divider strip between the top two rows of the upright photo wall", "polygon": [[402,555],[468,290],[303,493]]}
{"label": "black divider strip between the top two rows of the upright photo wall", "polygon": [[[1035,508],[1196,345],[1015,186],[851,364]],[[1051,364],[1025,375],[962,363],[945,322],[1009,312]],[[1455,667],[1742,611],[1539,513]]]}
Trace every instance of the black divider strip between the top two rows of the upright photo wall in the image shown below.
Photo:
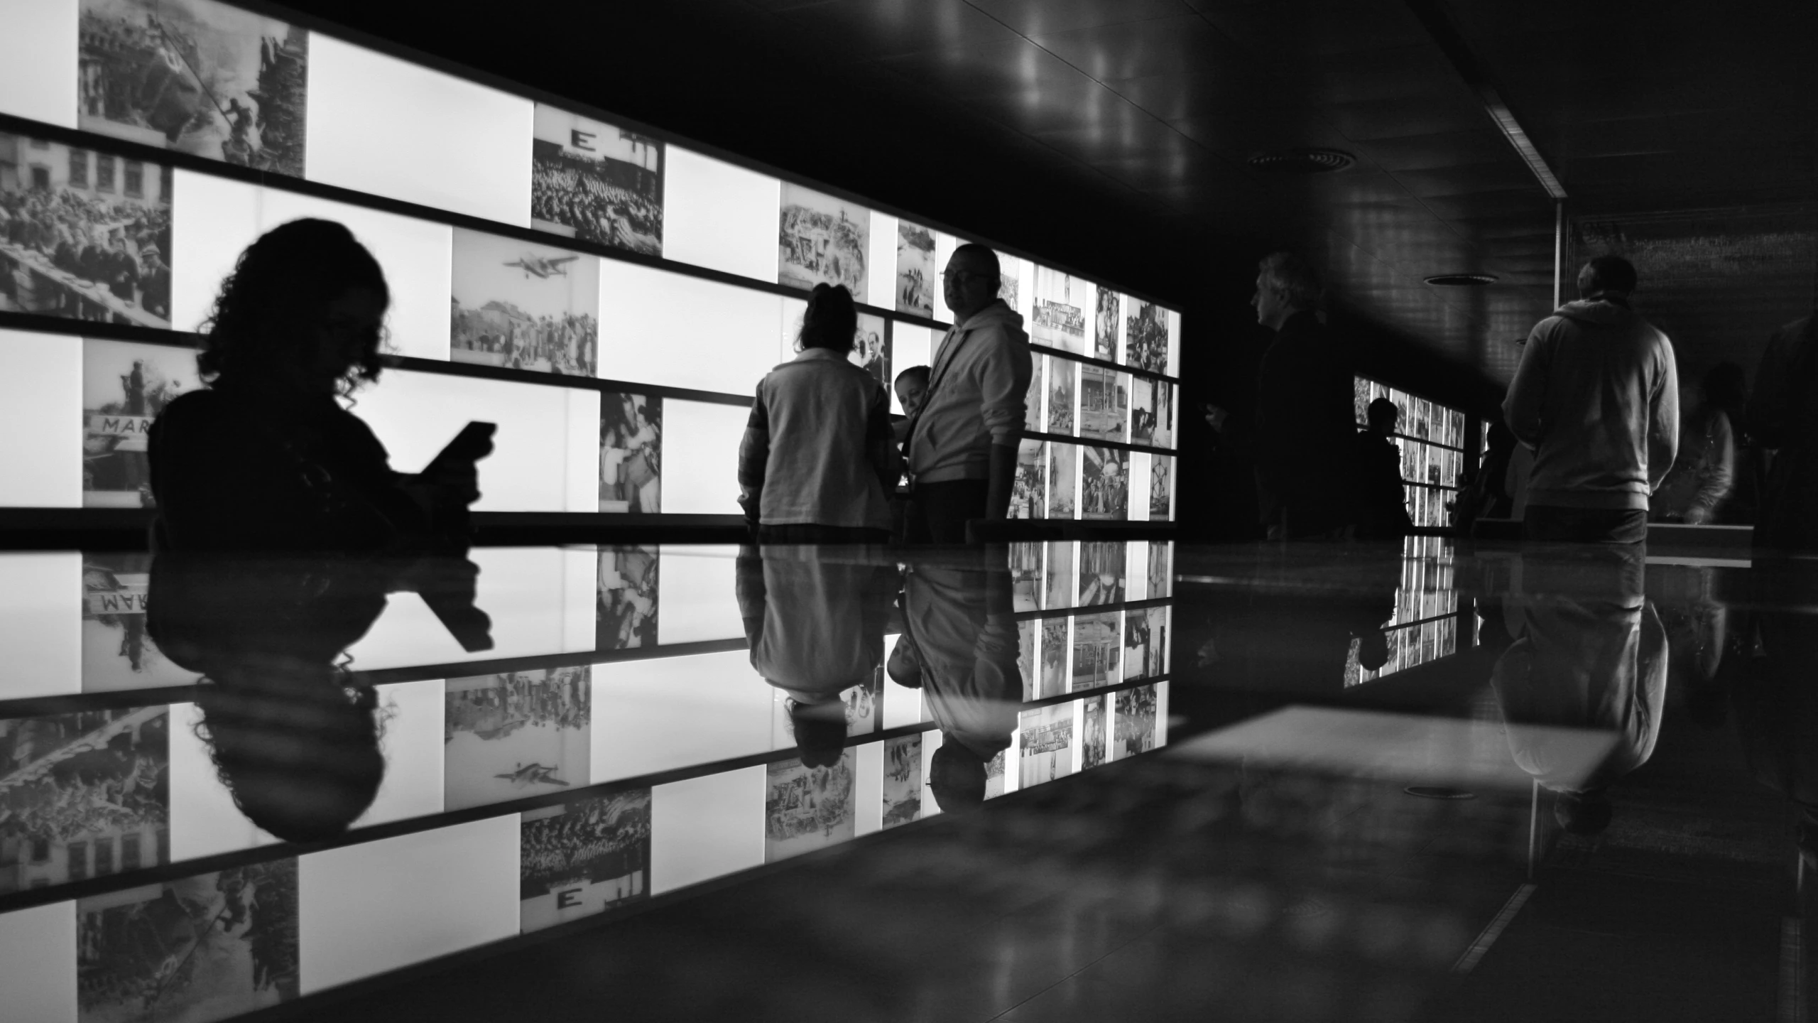
{"label": "black divider strip between the top two rows of the upright photo wall", "polygon": [[[611,118],[607,118],[607,120],[611,120]],[[124,157],[124,158],[144,160],[144,162],[155,164],[155,166],[182,167],[185,171],[195,171],[198,175],[207,175],[207,177],[216,177],[216,178],[227,178],[227,180],[238,180],[238,182],[253,184],[253,186],[260,186],[260,187],[275,187],[275,189],[291,191],[291,193],[296,193],[296,195],[309,195],[313,198],[324,198],[324,200],[329,200],[329,202],[342,202],[342,204],[358,206],[358,208],[364,208],[364,209],[376,209],[380,213],[393,213],[393,215],[398,215],[398,217],[409,217],[413,220],[424,220],[424,222],[429,222],[429,224],[444,224],[447,228],[465,228],[465,229],[471,229],[471,231],[484,231],[487,235],[494,235],[494,237],[502,237],[502,238],[516,238],[520,242],[529,242],[529,244],[536,244],[536,246],[549,246],[549,248],[567,249],[567,251],[574,251],[574,253],[585,253],[585,255],[593,255],[593,257],[600,257],[600,258],[613,258],[613,260],[620,260],[620,262],[631,262],[631,264],[645,266],[645,268],[651,268],[651,269],[664,269],[664,271],[669,271],[669,273],[678,273],[682,277],[693,277],[693,279],[698,279],[698,280],[711,280],[714,284],[727,284],[727,286],[733,286],[733,288],[744,288],[747,291],[764,291],[764,293],[769,293],[769,295],[778,295],[782,299],[798,299],[798,300],[805,302],[807,295],[809,295],[802,288],[791,288],[789,284],[782,284],[782,282],[776,282],[776,280],[764,280],[764,279],[758,279],[758,277],[744,277],[744,275],[738,275],[738,273],[727,273],[724,269],[711,269],[711,268],[705,268],[705,266],[696,266],[693,262],[680,262],[680,260],[673,260],[673,258],[634,253],[634,251],[629,251],[629,249],[620,249],[620,248],[605,246],[605,244],[600,244],[600,242],[589,242],[585,238],[569,238],[569,237],[564,237],[564,235],[554,235],[551,231],[538,231],[536,228],[520,228],[518,224],[505,224],[502,220],[487,220],[484,217],[473,217],[473,215],[467,215],[467,213],[454,213],[454,211],[449,211],[449,209],[440,209],[440,208],[435,208],[435,206],[422,206],[418,202],[407,202],[407,200],[402,200],[402,198],[385,198],[385,197],[380,197],[380,195],[371,195],[371,193],[356,191],[356,189],[351,189],[351,187],[313,182],[313,180],[307,180],[307,178],[293,178],[293,177],[275,175],[275,173],[267,173],[267,171],[255,171],[251,167],[242,167],[242,166],[236,166],[236,164],[225,164],[225,162],[220,162],[220,160],[209,160],[205,157],[195,157],[191,153],[176,153],[173,149],[158,149],[155,146],[145,146],[145,144],[140,144],[140,142],[127,142],[124,138],[113,138],[111,135],[93,135],[93,133],[80,131],[80,129],[75,129],[75,127],[60,127],[60,126],[55,126],[55,124],[44,124],[44,122],[38,122],[38,120],[27,120],[27,118],[22,118],[22,116],[15,116],[15,115],[0,113],[0,131],[11,131],[11,133],[18,133],[18,135],[29,135],[33,138],[45,138],[45,140],[51,140],[51,142],[62,142],[65,146],[76,146],[76,147],[82,147],[82,149],[93,149],[96,153],[111,153],[111,155],[118,155],[118,157]],[[820,187],[820,186],[814,186],[814,187]],[[862,206],[873,208],[867,200],[854,198],[854,202],[860,202]],[[182,204],[182,197],[180,195],[171,200],[173,224],[175,224],[176,208],[180,204]],[[916,220],[916,222],[920,222],[920,220]],[[249,238],[249,242],[251,242],[251,238]],[[1024,257],[1024,258],[1033,258],[1033,257]],[[1049,264],[1044,264],[1044,266],[1049,266]],[[180,273],[184,273],[184,268],[178,266],[176,253],[171,253],[171,275],[176,277]],[[1125,291],[1125,295],[1127,295],[1127,291]],[[854,302],[854,306],[858,306],[858,309],[864,311],[864,313],[884,317],[887,320],[896,320],[896,322],[905,322],[905,324],[913,324],[913,326],[920,326],[920,328],[929,328],[929,329],[934,329],[934,331],[945,331],[951,326],[947,322],[942,322],[942,320],[936,320],[936,319],[931,319],[931,317],[918,317],[914,313],[902,313],[902,311],[898,311],[894,308],[887,308],[887,306],[871,306],[867,302]],[[604,315],[605,315],[605,311],[602,309],[602,317]],[[47,317],[47,319],[56,319],[56,317]],[[87,320],[76,320],[76,322],[87,322]],[[145,329],[149,333],[156,333],[158,331],[158,328],[138,328],[138,329]],[[173,329],[173,333],[185,333],[185,331],[176,329],[176,324],[171,324],[171,329]],[[1036,346],[1031,346],[1031,348],[1036,348]],[[1164,379],[1164,380],[1173,380],[1171,377],[1162,377],[1162,375],[1156,375],[1156,373],[1147,373],[1144,370],[1133,370],[1129,366],[1118,366],[1114,362],[1102,362],[1102,360],[1096,360],[1096,359],[1085,359],[1082,355],[1073,355],[1071,351],[1060,351],[1060,349],[1051,349],[1051,348],[1040,348],[1040,351],[1045,353],[1045,355],[1065,355],[1069,359],[1078,359],[1082,362],[1096,362],[1096,364],[1111,366],[1111,368],[1124,370],[1124,371],[1142,373],[1145,377],[1156,377],[1156,379]],[[435,360],[431,360],[431,362],[435,362]],[[518,373],[527,373],[527,371],[518,370]],[[554,377],[558,380],[564,379],[564,377],[558,377],[554,373],[529,373],[529,375],[533,375],[533,377]],[[574,380],[576,377],[565,377],[565,379]],[[642,384],[638,384],[638,386],[642,386]]]}

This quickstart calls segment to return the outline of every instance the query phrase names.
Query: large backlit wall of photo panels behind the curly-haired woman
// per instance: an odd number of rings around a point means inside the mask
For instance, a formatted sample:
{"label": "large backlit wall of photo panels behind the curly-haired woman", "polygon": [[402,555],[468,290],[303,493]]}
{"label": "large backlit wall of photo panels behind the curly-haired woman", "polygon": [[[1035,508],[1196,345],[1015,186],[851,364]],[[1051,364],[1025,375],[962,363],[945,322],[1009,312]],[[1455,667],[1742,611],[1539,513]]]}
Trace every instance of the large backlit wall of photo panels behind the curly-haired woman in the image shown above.
{"label": "large backlit wall of photo panels behind the curly-haired woman", "polygon": [[[967,238],[933,222],[271,11],[47,2],[69,7],[75,36],[11,46],[60,80],[45,95],[73,100],[53,111],[0,96],[0,344],[36,344],[7,313],[171,333],[69,339],[64,359],[84,382],[84,471],[69,477],[80,486],[0,479],[0,506],[149,506],[144,430],[184,388],[207,386],[184,353],[191,331],[238,253],[298,217],[345,222],[391,284],[389,344],[407,364],[385,377],[409,384],[382,379],[358,397],[409,390],[409,402],[442,395],[465,413],[444,426],[404,410],[376,424],[400,468],[465,419],[500,424],[482,473],[511,486],[484,481],[487,512],[738,515],[734,488],[711,477],[740,424],[714,406],[749,408],[776,353],[789,357],[800,300],[778,286],[847,288],[860,302],[853,362],[887,388],[933,364],[949,328],[942,262]],[[445,158],[454,135],[471,160]],[[1180,313],[1011,251],[1000,266],[1036,364],[1014,515],[1171,519]],[[107,366],[100,351],[122,337],[169,357]],[[45,360],[0,382],[0,397],[42,406],[64,393],[45,386]],[[551,408],[545,388],[598,395],[596,426],[582,411],[536,415]],[[64,435],[22,442],[49,450]],[[598,453],[596,495],[536,455],[571,448]],[[665,493],[664,461],[685,486]],[[536,488],[516,486],[524,477],[544,495],[525,497]]]}

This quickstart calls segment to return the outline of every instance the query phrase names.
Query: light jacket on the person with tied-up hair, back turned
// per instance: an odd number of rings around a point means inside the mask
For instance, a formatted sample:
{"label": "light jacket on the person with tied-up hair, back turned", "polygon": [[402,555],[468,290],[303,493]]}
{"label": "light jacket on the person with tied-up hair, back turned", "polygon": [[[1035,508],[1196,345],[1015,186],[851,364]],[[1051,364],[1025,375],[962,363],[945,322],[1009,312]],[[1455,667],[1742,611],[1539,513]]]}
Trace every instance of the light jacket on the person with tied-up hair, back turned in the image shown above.
{"label": "light jacket on the person with tied-up hair, back turned", "polygon": [[765,373],[738,448],[738,502],[765,526],[889,530],[900,471],[884,388],[845,355],[809,348]]}

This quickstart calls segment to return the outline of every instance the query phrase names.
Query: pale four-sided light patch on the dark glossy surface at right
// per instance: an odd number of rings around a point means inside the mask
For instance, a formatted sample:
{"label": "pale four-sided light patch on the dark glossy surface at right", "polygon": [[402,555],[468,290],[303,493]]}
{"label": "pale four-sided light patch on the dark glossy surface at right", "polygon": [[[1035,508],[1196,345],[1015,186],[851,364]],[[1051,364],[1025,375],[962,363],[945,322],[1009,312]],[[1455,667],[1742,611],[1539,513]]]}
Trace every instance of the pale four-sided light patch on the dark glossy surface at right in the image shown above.
{"label": "pale four-sided light patch on the dark glossy surface at right", "polygon": [[[1523,726],[1545,735],[1551,777],[1569,786],[1596,768],[1614,735],[1583,728]],[[1383,779],[1400,785],[1527,792],[1529,775],[1509,755],[1498,723],[1373,710],[1289,706],[1174,746],[1173,755]]]}

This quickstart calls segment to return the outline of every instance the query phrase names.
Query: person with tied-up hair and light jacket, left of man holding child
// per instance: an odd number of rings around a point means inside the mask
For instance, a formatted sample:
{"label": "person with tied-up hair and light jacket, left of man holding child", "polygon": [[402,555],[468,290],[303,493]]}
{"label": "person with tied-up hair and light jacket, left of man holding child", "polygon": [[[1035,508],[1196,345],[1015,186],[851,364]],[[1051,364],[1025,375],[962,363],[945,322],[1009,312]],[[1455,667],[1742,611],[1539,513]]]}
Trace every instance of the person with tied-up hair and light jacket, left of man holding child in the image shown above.
{"label": "person with tied-up hair and light jacket, left of man holding child", "polygon": [[858,309],[816,284],[802,355],[758,380],[738,448],[738,504],[764,544],[884,544],[902,461],[884,386],[847,359]]}

